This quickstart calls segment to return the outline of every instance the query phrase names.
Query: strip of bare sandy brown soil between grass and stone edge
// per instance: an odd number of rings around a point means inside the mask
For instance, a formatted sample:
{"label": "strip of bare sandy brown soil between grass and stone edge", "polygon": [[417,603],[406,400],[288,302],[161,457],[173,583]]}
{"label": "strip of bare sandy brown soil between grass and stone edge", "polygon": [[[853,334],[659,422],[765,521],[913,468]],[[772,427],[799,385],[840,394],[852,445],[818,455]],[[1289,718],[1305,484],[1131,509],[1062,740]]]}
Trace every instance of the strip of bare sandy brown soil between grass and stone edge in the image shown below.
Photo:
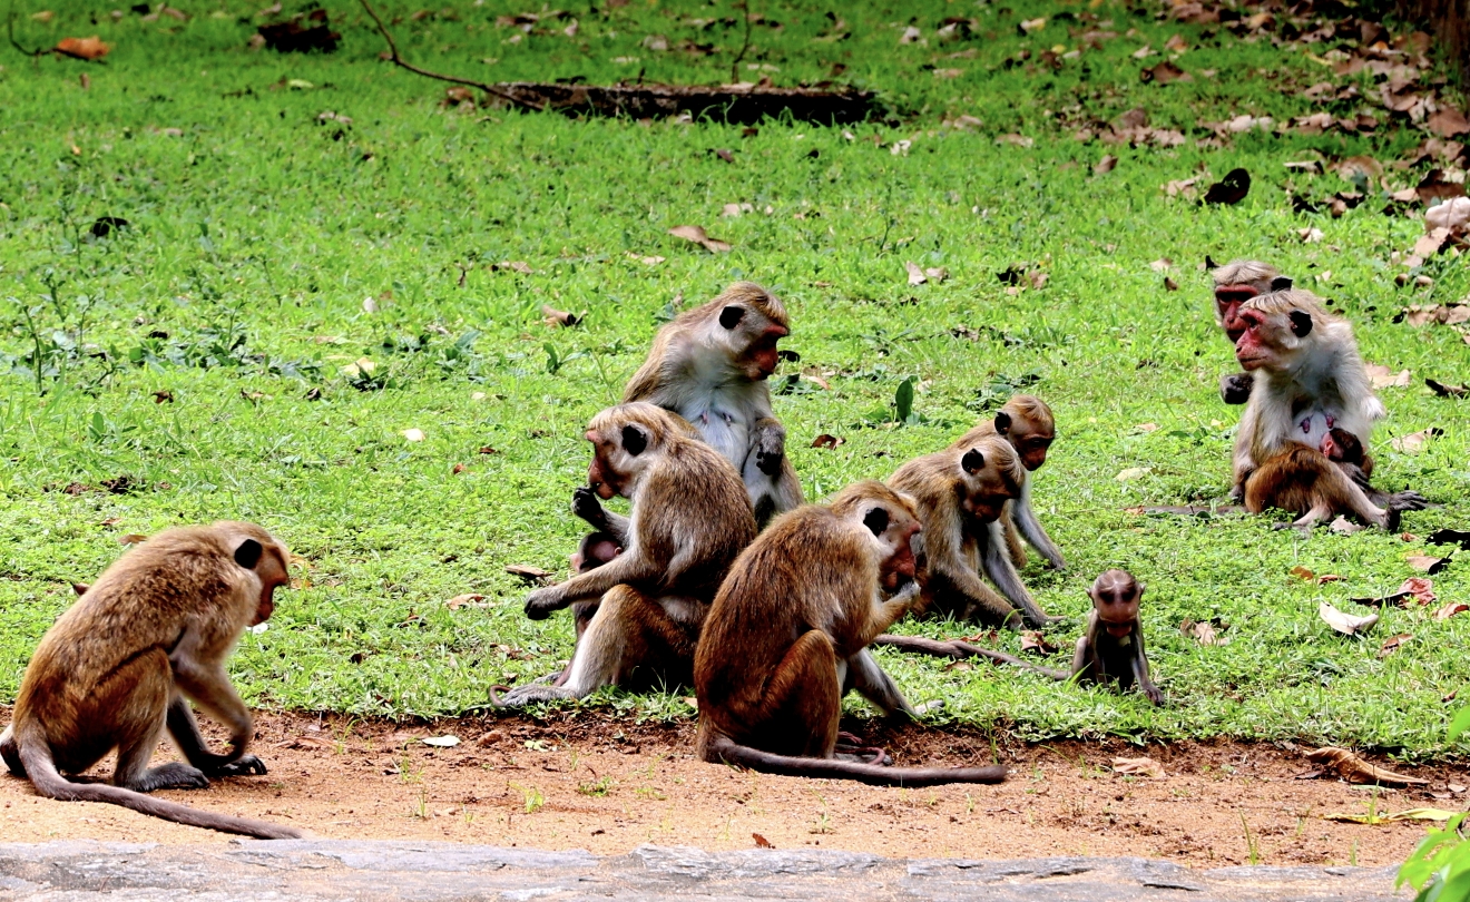
{"label": "strip of bare sandy brown soil between grass and stone edge", "polygon": [[[982,735],[869,726],[866,739],[885,745],[900,764],[992,757]],[[648,726],[585,711],[545,723],[460,718],[413,727],[260,714],[256,732],[253,751],[270,767],[269,776],[162,795],[290,823],[322,837],[604,855],[650,842],[742,849],[764,840],[897,858],[1142,855],[1192,865],[1380,865],[1402,861],[1423,826],[1344,824],[1323,815],[1363,814],[1373,805],[1379,812],[1464,809],[1463,786],[1470,783],[1463,767],[1376,761],[1430,783],[1374,790],[1329,777],[1299,779],[1314,770],[1299,748],[1220,742],[1139,749],[1102,740],[1000,745],[994,754],[1011,765],[1001,786],[875,789],[704,764],[691,755],[692,724]],[[460,745],[420,742],[444,735],[457,736]],[[1120,755],[1152,757],[1167,776],[1117,776],[1111,761]],[[229,840],[109,805],[38,799],[28,783],[9,776],[0,777],[0,834],[9,842]]]}

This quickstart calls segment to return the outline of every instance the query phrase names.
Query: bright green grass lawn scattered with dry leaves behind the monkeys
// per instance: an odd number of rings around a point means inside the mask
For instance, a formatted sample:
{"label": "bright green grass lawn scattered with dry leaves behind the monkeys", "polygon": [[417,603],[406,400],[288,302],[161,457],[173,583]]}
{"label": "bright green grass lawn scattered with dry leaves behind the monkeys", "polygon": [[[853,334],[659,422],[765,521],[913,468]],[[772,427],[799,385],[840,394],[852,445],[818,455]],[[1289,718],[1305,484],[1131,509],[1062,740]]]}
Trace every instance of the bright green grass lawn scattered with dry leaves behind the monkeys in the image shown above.
{"label": "bright green grass lawn scattered with dry leaves behind the monkeys", "polygon": [[[1442,739],[1452,705],[1441,699],[1470,682],[1470,616],[1389,610],[1366,641],[1317,618],[1322,599],[1357,610],[1348,598],[1395,589],[1414,574],[1404,558],[1421,542],[1123,510],[1219,498],[1229,486],[1238,410],[1219,403],[1216,379],[1233,358],[1197,269],[1208,253],[1277,261],[1335,298],[1370,361],[1413,370],[1413,388],[1382,392],[1392,416],[1376,435],[1379,479],[1444,504],[1408,514],[1407,530],[1466,524],[1466,405],[1432,397],[1421,378],[1463,382],[1470,348],[1449,328],[1392,323],[1404,304],[1464,297],[1464,259],[1426,263],[1432,288],[1398,288],[1402,269],[1389,254],[1407,251],[1421,225],[1382,214],[1376,198],[1341,219],[1295,214],[1288,188],[1322,198],[1351,185],[1282,167],[1314,153],[1386,162],[1420,137],[1385,128],[1194,141],[1208,134],[1198,120],[1310,112],[1298,88],[1329,71],[1302,53],[1223,32],[1202,40],[1198,26],[1157,22],[1152,7],[1102,3],[1097,16],[1136,34],[1057,72],[1035,60],[1007,69],[1022,48],[1076,47],[1067,26],[1078,22],[1022,37],[1023,16],[1085,7],[864,4],[842,12],[851,38],[816,43],[831,25],[825,6],[753,0],[784,26],[756,28],[745,62],[767,68],[744,78],[789,85],[841,63],[842,79],[879,90],[892,118],[851,128],[856,141],[782,122],[742,137],[717,122],[442,110],[442,85],[381,62],[378,37],[348,3],[329,6],[340,53],[248,51],[244,16],[262,4],[200,3],[187,24],[98,13],[96,25],[75,0],[49,24],[26,7],[16,25],[26,46],[96,32],[116,47],[106,65],[0,56],[0,369],[12,370],[0,376],[0,698],[13,698],[37,638],[71,602],[68,580],[113,560],[116,536],[216,517],[265,523],[307,561],[303,588],[278,598],[270,629],[247,635],[232,663],[253,704],[434,715],[484,702],[512,674],[548,671],[570,652],[569,618],[525,620],[525,586],[504,567],[564,571],[579,535],[566,501],[587,463],[584,423],[616,400],[670,304],[750,278],[786,300],[794,329],[784,344],[831,382],[823,391],[801,380],[776,398],[808,497],[888,476],[973,423],[972,405],[1035,376],[1030,391],[1051,403],[1060,429],[1038,502],[1072,569],[1032,564],[1025,577],[1047,610],[1073,618],[1054,639],[1075,638],[1097,571],[1122,566],[1148,583],[1144,623],[1169,707],[882,654],[914,701],[945,698],[944,718],[1026,739],[1226,735],[1417,758],[1464,751]],[[395,31],[410,59],[485,79],[603,82],[642,68],[648,79],[713,82],[729,78],[741,40],[738,28],[688,22],[738,15],[729,3],[638,0],[606,16],[576,4],[575,38],[516,44],[494,19],[520,6],[456,9],[459,19],[413,21],[403,4],[384,12],[403,16]],[[939,46],[935,28],[951,15],[976,16],[976,40]],[[928,46],[898,43],[910,16]],[[1132,51],[1176,32],[1194,47],[1179,65],[1195,81],[1142,84],[1145,63]],[[719,51],[657,53],[642,46],[647,35]],[[963,73],[936,78],[925,66]],[[1191,141],[1133,150],[1072,138],[1073,123],[1133,106]],[[328,110],[353,122],[322,122]],[[957,115],[983,126],[941,126]],[[997,144],[1007,132],[1035,144]],[[907,154],[891,153],[898,140],[911,141]],[[735,162],[716,148],[734,148]],[[1094,175],[1105,153],[1120,157],[1117,169]],[[1255,176],[1236,207],[1161,191],[1235,166]],[[1399,188],[1419,175],[1388,178]],[[722,219],[728,203],[756,212]],[[84,239],[98,216],[134,228]],[[666,234],[686,223],[735,250],[710,254]],[[1305,226],[1323,242],[1301,244]],[[638,260],[647,256],[666,260]],[[1151,269],[1161,257],[1175,261],[1180,291]],[[509,260],[534,272],[491,267]],[[908,260],[951,278],[910,288]],[[1023,263],[1050,281],[1008,294],[997,273]],[[365,311],[369,297],[376,313]],[[544,303],[587,310],[587,322],[551,331]],[[49,370],[41,391],[37,342]],[[376,363],[372,379],[343,372],[365,356]],[[910,376],[925,422],[867,426]],[[156,391],[173,403],[156,404]],[[1427,426],[1445,435],[1421,454],[1389,450],[1391,436]],[[406,441],[410,427],[426,439]],[[847,441],[810,448],[823,432]],[[479,454],[484,445],[498,452]],[[467,470],[454,475],[456,464]],[[1117,482],[1127,467],[1151,472]],[[134,486],[125,494],[63,491],[123,475]],[[1289,574],[1295,566],[1342,580],[1302,582]],[[1467,596],[1467,573],[1460,560],[1435,577],[1442,601]],[[444,607],[465,592],[490,607]],[[1180,636],[1182,620],[1211,616],[1230,624],[1229,645]],[[1414,641],[1379,658],[1380,641],[1401,632]],[[1017,639],[1001,643],[1014,651]],[[689,717],[679,695],[606,690],[591,704]]]}

